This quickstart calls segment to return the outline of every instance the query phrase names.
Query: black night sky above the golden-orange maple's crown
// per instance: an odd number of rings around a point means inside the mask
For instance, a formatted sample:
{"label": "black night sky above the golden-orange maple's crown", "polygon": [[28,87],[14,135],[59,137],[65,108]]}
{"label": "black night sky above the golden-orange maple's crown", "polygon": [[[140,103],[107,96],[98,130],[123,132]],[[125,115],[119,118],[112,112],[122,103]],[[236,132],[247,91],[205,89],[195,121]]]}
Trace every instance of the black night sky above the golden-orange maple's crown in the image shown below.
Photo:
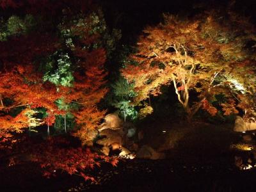
{"label": "black night sky above the golden-orange maple's crown", "polygon": [[[154,25],[161,21],[164,12],[180,15],[193,15],[206,9],[225,11],[228,0],[179,0],[179,1],[147,1],[130,0],[100,1],[104,10],[108,26],[122,29],[124,43],[134,42],[134,37],[141,33],[147,25]],[[236,0],[234,9],[237,13],[251,17],[256,22],[256,1]]]}

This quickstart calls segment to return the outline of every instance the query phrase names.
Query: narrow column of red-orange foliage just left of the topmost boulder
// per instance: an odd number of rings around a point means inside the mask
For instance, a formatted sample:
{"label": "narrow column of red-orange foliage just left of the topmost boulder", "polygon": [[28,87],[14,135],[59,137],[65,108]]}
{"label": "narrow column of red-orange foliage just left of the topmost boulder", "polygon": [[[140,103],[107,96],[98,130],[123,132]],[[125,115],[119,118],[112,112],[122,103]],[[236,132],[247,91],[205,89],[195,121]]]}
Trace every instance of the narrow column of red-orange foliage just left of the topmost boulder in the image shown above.
{"label": "narrow column of red-orange foliage just left of the topmost boulder", "polygon": [[107,92],[107,89],[104,88],[106,72],[103,69],[106,52],[104,49],[87,52],[77,48],[75,53],[79,58],[77,64],[81,68],[79,68],[79,72],[76,72],[74,87],[69,96],[66,95],[66,98],[80,104],[79,110],[73,112],[79,125],[79,129],[74,135],[84,143],[87,140],[87,131],[96,129],[106,113],[97,108],[97,103]]}

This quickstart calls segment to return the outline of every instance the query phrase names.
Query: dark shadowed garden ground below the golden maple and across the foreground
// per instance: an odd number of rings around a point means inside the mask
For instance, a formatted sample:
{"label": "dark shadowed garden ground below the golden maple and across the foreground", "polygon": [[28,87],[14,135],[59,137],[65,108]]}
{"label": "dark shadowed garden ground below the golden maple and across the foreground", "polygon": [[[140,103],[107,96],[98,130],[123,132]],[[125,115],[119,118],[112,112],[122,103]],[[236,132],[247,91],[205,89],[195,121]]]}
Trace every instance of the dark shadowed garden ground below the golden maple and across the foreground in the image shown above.
{"label": "dark shadowed garden ground below the golden maple and across the foreground", "polygon": [[[172,126],[173,125],[173,126]],[[175,126],[174,126],[175,125]],[[232,125],[198,123],[194,126],[162,124],[159,129],[147,124],[145,143],[160,147],[173,140],[166,159],[121,159],[118,166],[102,164],[88,171],[96,184],[84,182],[77,175],[59,173],[46,179],[36,164],[20,164],[1,169],[3,191],[255,191],[256,171],[239,170],[234,156],[243,159],[251,151],[230,148],[240,143],[254,146],[254,141],[243,141],[232,132]],[[166,132],[161,132],[164,130]],[[158,132],[158,134],[157,134]],[[160,133],[161,132],[161,133]],[[154,135],[155,140],[151,137]]]}

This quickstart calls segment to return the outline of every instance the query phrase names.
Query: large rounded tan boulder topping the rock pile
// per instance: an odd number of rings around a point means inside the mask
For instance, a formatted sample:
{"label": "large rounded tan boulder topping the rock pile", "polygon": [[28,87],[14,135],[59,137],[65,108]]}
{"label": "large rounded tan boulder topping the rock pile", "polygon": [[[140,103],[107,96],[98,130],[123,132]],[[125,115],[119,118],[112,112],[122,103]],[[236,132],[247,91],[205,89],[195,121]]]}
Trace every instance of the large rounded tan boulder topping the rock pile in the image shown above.
{"label": "large rounded tan boulder topping the rock pile", "polygon": [[100,125],[99,131],[104,129],[120,129],[122,127],[123,121],[115,113],[110,113],[105,116],[104,122]]}

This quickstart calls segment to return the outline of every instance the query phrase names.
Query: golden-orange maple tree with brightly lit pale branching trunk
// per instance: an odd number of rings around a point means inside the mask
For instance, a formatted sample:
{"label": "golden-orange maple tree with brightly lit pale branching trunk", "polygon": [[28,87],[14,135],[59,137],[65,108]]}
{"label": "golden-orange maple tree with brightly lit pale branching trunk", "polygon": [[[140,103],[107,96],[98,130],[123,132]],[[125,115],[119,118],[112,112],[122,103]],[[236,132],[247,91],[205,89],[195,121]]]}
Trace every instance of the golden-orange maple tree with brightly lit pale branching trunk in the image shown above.
{"label": "golden-orange maple tree with brightly lit pale branching trunk", "polygon": [[[164,15],[163,23],[143,31],[138,52],[130,56],[136,63],[127,65],[122,74],[134,83],[138,92],[136,104],[150,95],[161,94],[162,85],[173,84],[189,121],[202,105],[214,115],[216,109],[205,101],[211,100],[214,93],[228,93],[227,89],[236,86],[236,82],[246,90],[255,90],[252,88],[255,57],[250,53],[252,46],[248,47],[248,42],[253,40],[255,28],[245,18],[232,13],[224,17],[209,12],[191,19]],[[243,64],[246,68],[242,69]],[[246,83],[242,75],[250,72],[252,79]],[[193,102],[191,90],[198,95]],[[227,97],[232,94],[229,92]]]}

